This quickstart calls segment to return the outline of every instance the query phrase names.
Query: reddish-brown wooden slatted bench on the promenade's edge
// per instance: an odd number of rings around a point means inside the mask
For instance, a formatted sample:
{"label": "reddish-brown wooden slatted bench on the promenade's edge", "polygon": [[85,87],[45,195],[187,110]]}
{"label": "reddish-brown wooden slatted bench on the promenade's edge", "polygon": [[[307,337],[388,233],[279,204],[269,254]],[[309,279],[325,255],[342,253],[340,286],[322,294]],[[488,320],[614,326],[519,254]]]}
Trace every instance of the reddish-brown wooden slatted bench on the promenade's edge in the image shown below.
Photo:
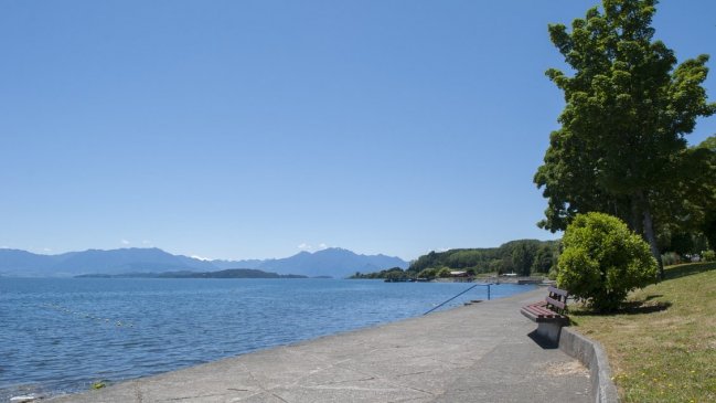
{"label": "reddish-brown wooden slatted bench on the promenade's edge", "polygon": [[537,335],[558,343],[562,327],[569,325],[566,316],[568,296],[567,290],[551,286],[545,300],[524,306],[520,312],[537,324]]}

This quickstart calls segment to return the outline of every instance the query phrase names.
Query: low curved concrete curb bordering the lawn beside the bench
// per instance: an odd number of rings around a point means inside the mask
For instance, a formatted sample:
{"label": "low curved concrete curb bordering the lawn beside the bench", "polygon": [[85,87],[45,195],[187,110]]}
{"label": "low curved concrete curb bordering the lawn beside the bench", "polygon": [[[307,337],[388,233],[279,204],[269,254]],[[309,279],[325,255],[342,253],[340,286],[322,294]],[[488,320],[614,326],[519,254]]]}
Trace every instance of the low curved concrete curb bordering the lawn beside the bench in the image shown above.
{"label": "low curved concrete curb bordering the lawn beside the bench", "polygon": [[611,380],[611,367],[607,353],[598,341],[590,340],[569,328],[562,328],[559,350],[579,360],[589,369],[595,402],[619,403],[619,393]]}

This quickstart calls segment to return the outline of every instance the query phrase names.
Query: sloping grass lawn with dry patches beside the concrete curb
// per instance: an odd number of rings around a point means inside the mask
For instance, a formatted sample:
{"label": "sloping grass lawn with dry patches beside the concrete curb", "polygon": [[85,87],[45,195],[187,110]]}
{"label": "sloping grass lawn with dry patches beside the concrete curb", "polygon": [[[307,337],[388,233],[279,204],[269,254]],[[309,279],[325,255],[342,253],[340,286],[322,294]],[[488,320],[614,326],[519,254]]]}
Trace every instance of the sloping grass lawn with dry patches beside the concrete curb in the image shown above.
{"label": "sloping grass lawn with dry patches beside the concrete curb", "polygon": [[570,310],[607,349],[624,402],[716,402],[716,264],[667,267],[616,315]]}

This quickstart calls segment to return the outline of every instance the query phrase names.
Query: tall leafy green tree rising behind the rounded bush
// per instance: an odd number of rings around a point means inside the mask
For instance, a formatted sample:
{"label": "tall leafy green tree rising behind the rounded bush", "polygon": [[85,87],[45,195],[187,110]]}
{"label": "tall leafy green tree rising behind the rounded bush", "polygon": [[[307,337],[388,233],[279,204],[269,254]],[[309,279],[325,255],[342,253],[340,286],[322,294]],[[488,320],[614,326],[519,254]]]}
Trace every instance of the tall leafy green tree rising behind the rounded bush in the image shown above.
{"label": "tall leafy green tree rising behind the rounded bush", "polygon": [[716,104],[702,86],[708,56],[677,65],[674,52],[653,40],[655,6],[603,0],[570,31],[549,25],[570,71],[546,73],[566,106],[534,180],[548,199],[542,227],[562,231],[578,213],[606,212],[642,234],[661,262],[655,219],[665,214],[656,210],[681,202],[671,190],[688,167],[684,135]]}

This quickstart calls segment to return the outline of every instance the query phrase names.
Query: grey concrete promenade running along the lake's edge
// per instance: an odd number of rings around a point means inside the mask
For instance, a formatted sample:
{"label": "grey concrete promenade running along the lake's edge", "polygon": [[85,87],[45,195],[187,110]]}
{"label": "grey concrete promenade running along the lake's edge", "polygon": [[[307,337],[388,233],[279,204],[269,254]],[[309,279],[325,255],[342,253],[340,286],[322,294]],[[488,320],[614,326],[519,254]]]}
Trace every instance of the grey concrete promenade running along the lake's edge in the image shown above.
{"label": "grey concrete promenade running along the lake's edge", "polygon": [[538,289],[229,358],[51,402],[594,402],[588,371],[543,348]]}

